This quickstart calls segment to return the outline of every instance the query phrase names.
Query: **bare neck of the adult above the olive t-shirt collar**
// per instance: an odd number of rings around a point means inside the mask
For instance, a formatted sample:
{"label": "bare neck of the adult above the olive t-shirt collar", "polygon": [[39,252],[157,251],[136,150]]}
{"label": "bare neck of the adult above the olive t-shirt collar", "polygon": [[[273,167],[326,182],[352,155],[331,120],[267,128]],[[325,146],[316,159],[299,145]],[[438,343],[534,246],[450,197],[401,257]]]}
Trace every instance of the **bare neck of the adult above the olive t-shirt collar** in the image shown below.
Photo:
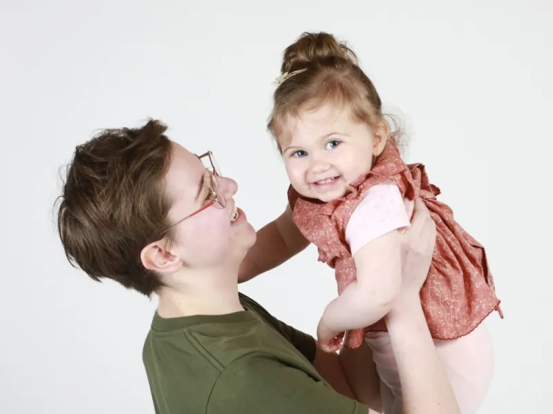
{"label": "bare neck of the adult above the olive t-shirt collar", "polygon": [[238,297],[238,271],[189,270],[171,277],[159,293],[158,315],[182,317],[225,315],[243,311]]}

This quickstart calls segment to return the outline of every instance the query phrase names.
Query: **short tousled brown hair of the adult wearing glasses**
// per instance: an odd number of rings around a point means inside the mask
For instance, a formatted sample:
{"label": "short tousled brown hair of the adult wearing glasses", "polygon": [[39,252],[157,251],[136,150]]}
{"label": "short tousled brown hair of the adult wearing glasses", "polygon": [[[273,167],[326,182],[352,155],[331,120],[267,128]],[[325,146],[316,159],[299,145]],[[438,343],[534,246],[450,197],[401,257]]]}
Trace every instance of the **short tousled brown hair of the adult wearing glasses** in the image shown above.
{"label": "short tousled brown hair of the adult wearing glasses", "polygon": [[149,120],[103,130],[77,146],[58,199],[57,230],[69,262],[96,281],[113,279],[147,296],[162,286],[140,252],[167,227],[166,130]]}

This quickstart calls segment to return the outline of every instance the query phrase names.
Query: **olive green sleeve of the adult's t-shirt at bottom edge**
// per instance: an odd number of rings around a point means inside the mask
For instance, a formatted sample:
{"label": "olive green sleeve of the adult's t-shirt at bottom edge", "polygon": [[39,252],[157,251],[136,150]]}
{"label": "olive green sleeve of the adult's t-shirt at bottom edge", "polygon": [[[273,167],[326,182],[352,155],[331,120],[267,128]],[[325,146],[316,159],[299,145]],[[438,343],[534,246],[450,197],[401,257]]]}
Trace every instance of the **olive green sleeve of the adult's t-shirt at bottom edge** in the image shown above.
{"label": "olive green sleeve of the adult's t-shirt at bottom edge", "polygon": [[265,353],[232,362],[219,375],[207,414],[366,414],[368,408],[299,367]]}

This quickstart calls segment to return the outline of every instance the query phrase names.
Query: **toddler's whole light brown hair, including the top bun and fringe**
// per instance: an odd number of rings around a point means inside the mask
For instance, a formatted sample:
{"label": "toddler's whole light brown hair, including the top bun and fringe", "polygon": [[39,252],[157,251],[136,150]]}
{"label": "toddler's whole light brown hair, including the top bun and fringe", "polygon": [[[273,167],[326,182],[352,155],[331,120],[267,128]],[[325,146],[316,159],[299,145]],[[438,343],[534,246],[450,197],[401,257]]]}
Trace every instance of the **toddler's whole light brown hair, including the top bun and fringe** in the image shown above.
{"label": "toddler's whole light brown hair, including the top bun and fringe", "polygon": [[371,128],[384,127],[386,134],[397,141],[398,131],[391,133],[391,124],[397,121],[388,115],[384,119],[382,101],[373,82],[359,68],[353,50],[332,34],[303,33],[284,50],[281,73],[267,125],[280,152],[281,139],[288,132],[287,121],[300,111],[315,110],[326,103],[348,107],[354,121]]}

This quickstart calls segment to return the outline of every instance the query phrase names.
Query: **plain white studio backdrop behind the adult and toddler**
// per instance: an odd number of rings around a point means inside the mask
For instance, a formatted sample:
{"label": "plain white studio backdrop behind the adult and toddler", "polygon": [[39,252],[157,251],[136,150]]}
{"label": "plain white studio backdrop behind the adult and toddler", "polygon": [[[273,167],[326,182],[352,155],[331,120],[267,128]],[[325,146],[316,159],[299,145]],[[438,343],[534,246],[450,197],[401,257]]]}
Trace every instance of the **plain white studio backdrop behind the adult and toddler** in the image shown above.
{"label": "plain white studio backdrop behind the adult and toddler", "polygon": [[[245,3],[0,0],[0,411],[153,413],[141,352],[156,303],[66,262],[52,217],[59,167],[96,130],[158,117],[190,150],[216,153],[261,227],[286,202],[265,132],[271,82],[285,46],[325,30],[407,115],[408,161],[427,164],[487,246],[505,319],[489,318],[496,378],[480,412],[551,412],[552,3]],[[316,257],[310,248],[241,289],[315,333],[335,295]]]}

